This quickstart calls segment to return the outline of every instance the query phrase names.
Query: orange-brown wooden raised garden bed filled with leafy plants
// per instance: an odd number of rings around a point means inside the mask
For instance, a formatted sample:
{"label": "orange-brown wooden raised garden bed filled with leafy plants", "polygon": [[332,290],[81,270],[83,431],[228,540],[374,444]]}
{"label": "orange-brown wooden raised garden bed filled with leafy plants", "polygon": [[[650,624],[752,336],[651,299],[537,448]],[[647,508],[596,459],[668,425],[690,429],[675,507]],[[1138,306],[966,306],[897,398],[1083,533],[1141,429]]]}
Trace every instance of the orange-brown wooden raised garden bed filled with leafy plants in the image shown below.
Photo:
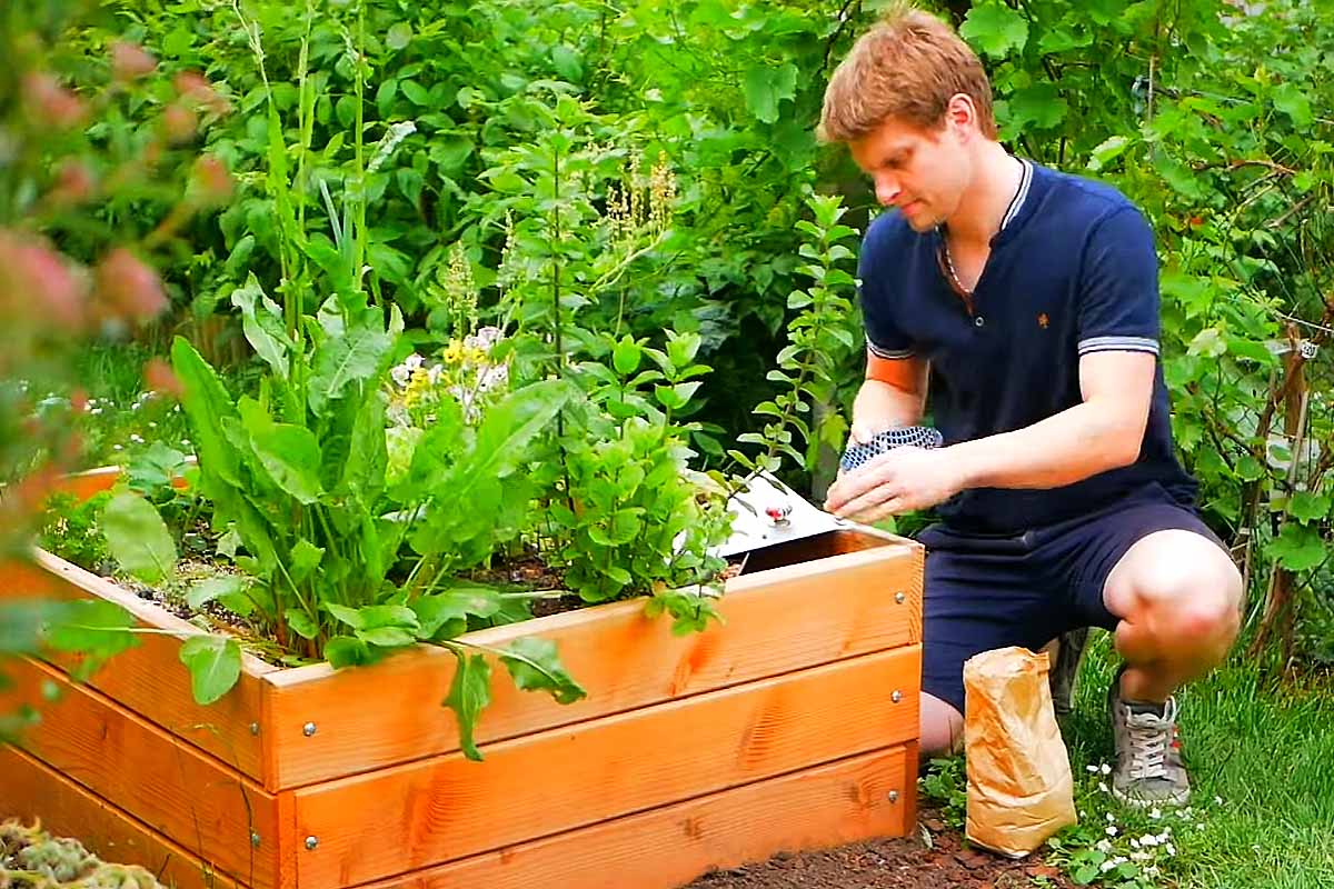
{"label": "orange-brown wooden raised garden bed filled with leafy plants", "polygon": [[[836,530],[754,553],[719,602],[726,625],[704,633],[674,636],[636,601],[475,633],[551,638],[588,689],[562,706],[494,682],[484,762],[459,752],[440,705],[455,658],[431,646],[338,672],[247,656],[211,706],[169,634],[87,685],[68,664],[11,661],[0,710],[41,702],[43,718],[21,749],[0,746],[0,818],[40,817],[180,889],[668,889],[903,834],[922,557]],[[0,569],[0,598],[35,596],[103,597],[197,632],[44,552]]]}

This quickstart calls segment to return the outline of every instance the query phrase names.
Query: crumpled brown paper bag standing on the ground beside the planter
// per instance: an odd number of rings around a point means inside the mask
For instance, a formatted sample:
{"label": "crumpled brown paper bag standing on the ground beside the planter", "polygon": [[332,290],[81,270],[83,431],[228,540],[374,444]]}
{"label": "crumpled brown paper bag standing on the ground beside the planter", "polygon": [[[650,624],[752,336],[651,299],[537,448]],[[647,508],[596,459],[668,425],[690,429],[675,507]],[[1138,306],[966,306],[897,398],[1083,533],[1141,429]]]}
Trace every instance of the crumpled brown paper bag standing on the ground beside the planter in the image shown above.
{"label": "crumpled brown paper bag standing on the ground beside the planter", "polygon": [[967,837],[1011,858],[1077,821],[1049,666],[1046,653],[1015,646],[982,652],[963,665]]}

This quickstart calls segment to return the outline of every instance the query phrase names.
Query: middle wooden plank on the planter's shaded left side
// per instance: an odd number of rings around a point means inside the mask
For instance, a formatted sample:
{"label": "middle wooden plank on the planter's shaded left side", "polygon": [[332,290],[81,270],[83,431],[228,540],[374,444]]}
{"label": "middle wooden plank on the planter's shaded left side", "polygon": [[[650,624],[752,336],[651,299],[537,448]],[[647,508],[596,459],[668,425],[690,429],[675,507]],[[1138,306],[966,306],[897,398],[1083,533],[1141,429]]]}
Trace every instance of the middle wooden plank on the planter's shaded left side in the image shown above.
{"label": "middle wooden plank on the planter's shaded left side", "polygon": [[[273,796],[59,670],[17,658],[5,672],[15,686],[0,693],[0,712],[28,704],[41,714],[23,749],[217,869],[251,886],[276,885]],[[59,698],[48,702],[52,686]]]}

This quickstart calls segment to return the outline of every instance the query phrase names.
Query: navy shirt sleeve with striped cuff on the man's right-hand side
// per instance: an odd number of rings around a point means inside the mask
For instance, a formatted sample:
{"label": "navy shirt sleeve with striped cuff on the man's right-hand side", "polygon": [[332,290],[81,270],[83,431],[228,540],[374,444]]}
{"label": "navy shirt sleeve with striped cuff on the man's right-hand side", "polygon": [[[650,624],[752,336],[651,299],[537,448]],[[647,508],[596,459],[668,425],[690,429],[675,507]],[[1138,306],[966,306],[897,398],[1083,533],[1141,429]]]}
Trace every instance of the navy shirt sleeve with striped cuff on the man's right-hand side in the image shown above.
{"label": "navy shirt sleeve with striped cuff on the man's right-hand side", "polygon": [[1094,228],[1079,281],[1078,349],[1158,355],[1158,253],[1149,221],[1134,207]]}

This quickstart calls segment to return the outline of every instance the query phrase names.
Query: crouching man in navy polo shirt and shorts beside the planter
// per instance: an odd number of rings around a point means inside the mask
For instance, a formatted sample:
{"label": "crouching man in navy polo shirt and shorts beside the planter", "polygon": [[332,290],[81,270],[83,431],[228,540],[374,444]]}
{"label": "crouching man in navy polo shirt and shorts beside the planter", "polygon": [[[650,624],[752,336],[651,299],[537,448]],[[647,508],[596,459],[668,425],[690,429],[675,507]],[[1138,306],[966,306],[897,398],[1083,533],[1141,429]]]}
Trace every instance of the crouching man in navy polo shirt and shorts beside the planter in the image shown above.
{"label": "crouching man in navy polo shirt and shorts beside the planter", "polygon": [[1242,584],[1174,454],[1149,224],[1113,188],[1009,155],[976,56],[920,11],[858,40],[820,136],[891,208],[862,245],[851,437],[920,423],[930,381],[946,443],[844,473],[826,504],[862,521],[939,506],[920,536],[922,749],[956,746],[968,657],[1103,626],[1125,661],[1113,792],[1183,804],[1173,692],[1226,657]]}

